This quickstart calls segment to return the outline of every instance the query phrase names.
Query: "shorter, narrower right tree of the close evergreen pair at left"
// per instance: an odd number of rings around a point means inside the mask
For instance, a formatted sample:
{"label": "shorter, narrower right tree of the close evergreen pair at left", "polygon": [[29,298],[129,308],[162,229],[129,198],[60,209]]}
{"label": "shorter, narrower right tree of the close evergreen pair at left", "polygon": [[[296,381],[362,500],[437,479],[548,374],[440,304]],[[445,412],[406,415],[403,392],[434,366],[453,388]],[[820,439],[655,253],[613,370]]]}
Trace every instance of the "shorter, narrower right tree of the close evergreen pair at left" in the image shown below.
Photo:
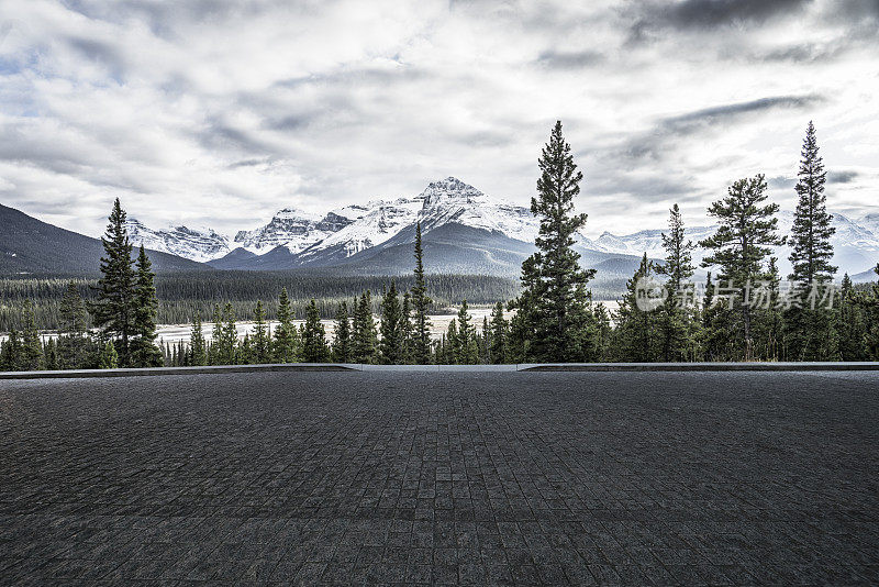
{"label": "shorter, narrower right tree of the close evergreen pair at left", "polygon": [[132,312],[132,334],[130,359],[132,367],[159,367],[163,364],[162,350],[156,346],[156,286],[155,274],[143,245],[137,256],[137,280],[134,288]]}

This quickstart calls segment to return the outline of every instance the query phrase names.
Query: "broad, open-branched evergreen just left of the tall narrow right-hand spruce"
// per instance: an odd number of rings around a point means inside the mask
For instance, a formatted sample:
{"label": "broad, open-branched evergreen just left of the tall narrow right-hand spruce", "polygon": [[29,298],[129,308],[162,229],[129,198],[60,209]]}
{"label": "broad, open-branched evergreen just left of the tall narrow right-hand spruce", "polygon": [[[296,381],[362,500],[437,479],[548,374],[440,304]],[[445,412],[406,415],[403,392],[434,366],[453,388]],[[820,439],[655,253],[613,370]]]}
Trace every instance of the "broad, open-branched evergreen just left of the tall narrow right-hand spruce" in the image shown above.
{"label": "broad, open-branched evergreen just left of the tall narrow right-hand spruce", "polygon": [[717,280],[726,283],[730,289],[724,310],[733,312],[736,307],[739,309],[737,323],[730,320],[734,331],[738,332],[737,340],[731,342],[732,346],[741,348],[741,356],[746,361],[753,357],[754,340],[750,300],[744,299],[744,292],[760,276],[761,264],[771,252],[769,247],[785,244],[785,239],[776,234],[778,204],[764,203],[766,188],[763,174],[733,182],[727,197],[708,209],[709,214],[717,219],[717,232],[699,243],[712,251],[702,261],[702,266],[719,266]]}

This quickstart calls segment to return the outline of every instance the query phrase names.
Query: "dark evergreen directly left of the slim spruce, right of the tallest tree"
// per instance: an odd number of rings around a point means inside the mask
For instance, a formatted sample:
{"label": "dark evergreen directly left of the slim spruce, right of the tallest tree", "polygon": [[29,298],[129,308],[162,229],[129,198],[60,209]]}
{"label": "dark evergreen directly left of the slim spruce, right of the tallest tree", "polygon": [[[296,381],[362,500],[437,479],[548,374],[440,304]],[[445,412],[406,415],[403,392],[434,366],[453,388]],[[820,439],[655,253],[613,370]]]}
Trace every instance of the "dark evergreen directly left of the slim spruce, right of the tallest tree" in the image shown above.
{"label": "dark evergreen directly left of the slim spruce, right of the tallest tree", "polygon": [[616,311],[615,353],[620,361],[653,363],[660,358],[659,312],[638,304],[638,296],[646,295],[639,286],[643,287],[653,273],[654,264],[645,253],[635,275],[626,283],[626,294]]}

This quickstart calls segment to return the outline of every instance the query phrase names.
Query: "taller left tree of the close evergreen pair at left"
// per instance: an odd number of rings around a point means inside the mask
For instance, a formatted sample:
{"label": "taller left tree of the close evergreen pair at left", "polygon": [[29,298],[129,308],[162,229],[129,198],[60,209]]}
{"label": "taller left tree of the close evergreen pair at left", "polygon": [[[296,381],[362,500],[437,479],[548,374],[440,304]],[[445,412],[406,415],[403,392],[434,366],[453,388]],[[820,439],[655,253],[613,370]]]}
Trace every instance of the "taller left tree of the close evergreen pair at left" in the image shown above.
{"label": "taller left tree of the close evergreen pair at left", "polygon": [[113,203],[107,233],[101,237],[101,278],[98,299],[91,308],[94,325],[103,340],[114,339],[120,363],[129,363],[129,341],[134,334],[135,275],[132,245],[125,229],[125,211],[119,198]]}

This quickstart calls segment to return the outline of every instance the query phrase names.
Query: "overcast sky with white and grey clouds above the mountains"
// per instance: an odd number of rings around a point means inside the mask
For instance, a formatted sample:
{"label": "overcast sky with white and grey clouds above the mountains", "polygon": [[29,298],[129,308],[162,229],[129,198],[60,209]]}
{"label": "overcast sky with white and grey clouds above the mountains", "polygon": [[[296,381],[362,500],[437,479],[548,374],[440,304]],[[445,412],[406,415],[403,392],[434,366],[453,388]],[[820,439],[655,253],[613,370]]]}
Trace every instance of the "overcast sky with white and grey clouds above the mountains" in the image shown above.
{"label": "overcast sky with white and grey clouds above the mountains", "polygon": [[587,232],[634,232],[757,173],[792,209],[811,119],[858,217],[878,37],[879,0],[0,0],[0,203],[92,235],[116,196],[226,233],[449,175],[527,204],[561,119]]}

